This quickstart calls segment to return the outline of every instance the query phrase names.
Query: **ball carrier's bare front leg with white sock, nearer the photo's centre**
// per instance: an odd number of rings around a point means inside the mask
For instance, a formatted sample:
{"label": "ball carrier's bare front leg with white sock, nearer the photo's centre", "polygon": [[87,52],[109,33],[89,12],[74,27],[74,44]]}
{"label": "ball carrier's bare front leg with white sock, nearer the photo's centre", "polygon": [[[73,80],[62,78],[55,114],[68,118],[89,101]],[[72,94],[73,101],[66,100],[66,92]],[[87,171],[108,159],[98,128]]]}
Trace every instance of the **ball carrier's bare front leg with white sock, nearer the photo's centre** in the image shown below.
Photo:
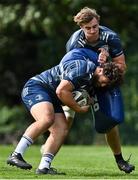
{"label": "ball carrier's bare front leg with white sock, nearer the photo's centre", "polygon": [[50,166],[69,131],[69,124],[63,113],[55,114],[55,122],[49,128],[49,131],[50,135],[44,144],[42,159],[36,170],[37,174],[59,174],[59,172],[55,171],[55,169]]}

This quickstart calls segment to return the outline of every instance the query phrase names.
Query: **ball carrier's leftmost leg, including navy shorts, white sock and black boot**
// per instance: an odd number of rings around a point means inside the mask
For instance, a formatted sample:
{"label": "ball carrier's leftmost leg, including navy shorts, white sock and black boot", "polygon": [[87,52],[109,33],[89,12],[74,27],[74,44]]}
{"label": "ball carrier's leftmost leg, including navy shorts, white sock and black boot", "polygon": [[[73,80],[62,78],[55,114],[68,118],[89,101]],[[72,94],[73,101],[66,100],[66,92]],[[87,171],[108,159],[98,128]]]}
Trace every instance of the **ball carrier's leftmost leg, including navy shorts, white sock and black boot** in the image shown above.
{"label": "ball carrier's leftmost leg, including navy shorts, white sock and black boot", "polygon": [[32,166],[23,159],[23,154],[34,140],[53,124],[54,107],[46,89],[33,80],[29,80],[23,88],[22,100],[35,122],[26,129],[7,163],[22,169],[31,169]]}

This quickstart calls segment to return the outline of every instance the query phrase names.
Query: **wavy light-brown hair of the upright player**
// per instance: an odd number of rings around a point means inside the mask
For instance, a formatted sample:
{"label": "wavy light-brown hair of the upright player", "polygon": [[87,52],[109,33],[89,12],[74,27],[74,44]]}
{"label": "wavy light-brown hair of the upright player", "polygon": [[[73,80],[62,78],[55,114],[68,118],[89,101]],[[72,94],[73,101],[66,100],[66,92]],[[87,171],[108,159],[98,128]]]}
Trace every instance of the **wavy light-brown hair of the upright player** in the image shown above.
{"label": "wavy light-brown hair of the upright player", "polygon": [[74,22],[81,26],[83,24],[89,23],[93,18],[100,21],[100,16],[97,14],[95,9],[84,7],[81,9],[76,16],[74,16]]}

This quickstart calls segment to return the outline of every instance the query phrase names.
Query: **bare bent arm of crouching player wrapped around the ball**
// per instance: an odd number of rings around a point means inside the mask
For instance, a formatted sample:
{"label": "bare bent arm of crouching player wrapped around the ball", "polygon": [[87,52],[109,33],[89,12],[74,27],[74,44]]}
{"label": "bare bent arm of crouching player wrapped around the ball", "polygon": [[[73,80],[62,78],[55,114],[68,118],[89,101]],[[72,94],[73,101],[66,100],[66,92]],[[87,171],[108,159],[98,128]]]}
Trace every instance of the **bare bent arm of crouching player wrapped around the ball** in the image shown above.
{"label": "bare bent arm of crouching player wrapped around the ball", "polygon": [[62,80],[56,89],[56,94],[63,104],[67,105],[74,111],[87,112],[89,107],[80,107],[73,98],[72,90],[73,85],[67,80]]}

